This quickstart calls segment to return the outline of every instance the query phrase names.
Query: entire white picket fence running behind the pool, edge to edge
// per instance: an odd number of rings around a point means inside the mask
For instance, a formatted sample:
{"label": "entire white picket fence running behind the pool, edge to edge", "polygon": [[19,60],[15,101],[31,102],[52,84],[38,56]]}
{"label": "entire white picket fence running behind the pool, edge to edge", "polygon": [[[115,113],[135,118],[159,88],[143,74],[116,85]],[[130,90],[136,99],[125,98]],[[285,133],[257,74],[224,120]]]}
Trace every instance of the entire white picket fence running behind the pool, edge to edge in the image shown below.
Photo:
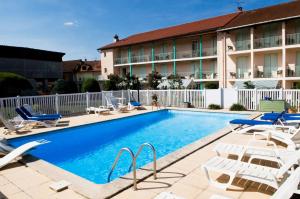
{"label": "entire white picket fence running behind the pool, edge to edge", "polygon": [[82,114],[90,106],[106,106],[105,96],[122,99],[124,104],[139,100],[143,105],[151,105],[156,94],[162,106],[180,107],[190,102],[195,108],[207,108],[209,104],[219,104],[229,108],[239,103],[247,110],[259,110],[259,101],[265,97],[286,100],[291,106],[300,107],[300,90],[256,90],[256,89],[207,89],[207,90],[120,90],[97,93],[56,94],[45,96],[25,96],[0,98],[0,112],[5,118],[16,116],[15,108],[29,104],[34,111],[41,113],[60,113],[64,116]]}

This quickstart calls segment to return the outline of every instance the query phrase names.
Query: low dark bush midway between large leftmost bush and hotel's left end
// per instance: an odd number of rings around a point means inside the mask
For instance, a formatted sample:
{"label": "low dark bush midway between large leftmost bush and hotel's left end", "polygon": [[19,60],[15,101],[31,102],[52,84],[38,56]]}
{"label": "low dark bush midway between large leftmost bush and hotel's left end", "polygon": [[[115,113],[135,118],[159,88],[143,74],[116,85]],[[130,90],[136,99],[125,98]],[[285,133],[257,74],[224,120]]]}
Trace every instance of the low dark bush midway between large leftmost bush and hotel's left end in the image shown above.
{"label": "low dark bush midway between large leftmost bush and hotel's left end", "polygon": [[65,81],[58,79],[51,90],[51,93],[65,94],[65,93],[77,93],[77,85],[73,81]]}

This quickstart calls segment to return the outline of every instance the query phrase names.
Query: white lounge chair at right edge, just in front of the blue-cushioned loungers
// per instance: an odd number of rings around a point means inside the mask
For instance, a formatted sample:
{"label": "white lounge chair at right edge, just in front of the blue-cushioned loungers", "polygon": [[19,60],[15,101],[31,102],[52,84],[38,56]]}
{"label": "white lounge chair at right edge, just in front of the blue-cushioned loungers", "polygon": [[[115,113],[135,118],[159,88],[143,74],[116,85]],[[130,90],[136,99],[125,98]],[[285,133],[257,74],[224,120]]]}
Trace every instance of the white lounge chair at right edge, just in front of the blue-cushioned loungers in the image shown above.
{"label": "white lounge chair at right edge, just in front of the blue-cushioned loungers", "polygon": [[280,141],[282,143],[287,144],[287,148],[289,150],[296,150],[300,146],[300,128],[295,129],[293,131],[289,131],[287,133],[276,131],[276,130],[267,130],[267,131],[260,131],[254,132],[254,138],[257,135],[261,135],[265,137],[267,140],[274,139]]}

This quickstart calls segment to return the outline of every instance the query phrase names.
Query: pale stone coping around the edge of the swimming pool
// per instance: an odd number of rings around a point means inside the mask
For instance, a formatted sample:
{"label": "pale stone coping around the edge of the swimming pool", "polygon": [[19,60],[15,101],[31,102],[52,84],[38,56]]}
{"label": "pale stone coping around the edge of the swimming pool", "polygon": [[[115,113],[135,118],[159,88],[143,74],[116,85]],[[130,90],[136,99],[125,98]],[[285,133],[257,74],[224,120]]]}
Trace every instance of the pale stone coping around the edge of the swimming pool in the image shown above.
{"label": "pale stone coping around the edge of the swimming pool", "polygon": [[[229,111],[206,111],[202,109],[198,110],[191,110],[191,109],[179,109],[179,108],[169,108],[167,107],[166,109],[161,109],[161,110],[187,110],[187,111],[195,111],[195,112],[214,112],[214,113],[232,113],[234,114],[235,112],[229,112]],[[160,111],[160,110],[158,110]],[[139,114],[134,114],[130,116],[124,116],[124,117],[119,117],[119,118],[113,118],[109,119],[106,121],[111,121],[111,120],[116,120],[116,119],[121,119],[121,118],[126,118],[126,117],[132,117],[136,115],[142,115],[142,114],[147,114],[151,113],[150,112],[143,112]],[[240,112],[239,112],[240,113]],[[249,113],[249,112],[244,112],[244,114],[249,114],[249,119],[254,119],[259,117],[261,113]],[[103,122],[103,121],[100,121]],[[99,122],[96,122],[99,123]],[[81,125],[78,125],[81,126]],[[72,127],[70,127],[72,128]],[[235,126],[237,128],[237,125]],[[55,131],[55,130],[54,130]],[[46,132],[41,132],[41,133],[47,133],[50,131]],[[227,134],[231,133],[231,129],[226,126],[216,132],[211,133],[208,136],[205,136],[203,138],[200,138],[188,145],[185,145],[184,147],[181,147],[177,149],[176,151],[173,151],[172,153],[167,154],[164,157],[161,157],[157,160],[157,171],[161,171],[176,162],[179,162],[180,160],[188,157],[189,155],[195,153],[196,151],[204,148],[205,146],[217,141],[218,139],[226,136]],[[33,170],[41,173],[42,175],[45,175],[49,177],[51,180],[67,180],[71,183],[70,188],[75,191],[76,193],[88,197],[88,198],[110,198],[113,197],[124,190],[132,187],[132,172],[126,174],[125,176],[122,176],[120,178],[117,178],[110,183],[107,184],[96,184],[94,182],[91,182],[85,178],[82,178],[76,174],[73,174],[69,171],[66,171],[62,168],[59,168],[47,161],[44,161],[42,159],[38,159],[36,157],[33,157],[31,155],[26,155],[23,157],[21,160],[25,165],[28,167],[32,168]],[[153,175],[152,172],[152,164],[153,162],[150,162],[149,164],[143,166],[141,169],[137,169],[137,179],[138,182],[149,178]]]}

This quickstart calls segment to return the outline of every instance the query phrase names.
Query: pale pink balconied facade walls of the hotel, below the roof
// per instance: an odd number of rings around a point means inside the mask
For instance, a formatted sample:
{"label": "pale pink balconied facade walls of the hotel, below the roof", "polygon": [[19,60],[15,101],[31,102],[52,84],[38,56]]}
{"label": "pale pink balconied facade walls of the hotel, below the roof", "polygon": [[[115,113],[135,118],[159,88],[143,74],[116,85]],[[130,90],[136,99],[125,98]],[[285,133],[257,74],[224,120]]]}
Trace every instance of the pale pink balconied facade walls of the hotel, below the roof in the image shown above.
{"label": "pale pink balconied facade walls of the hotel, below the roof", "polygon": [[[264,56],[271,53],[278,55],[278,72],[275,75],[275,71],[271,78],[279,78],[278,81],[282,81],[283,88],[291,88],[294,82],[300,81],[300,75],[295,76],[288,75],[288,66],[296,64],[296,52],[300,51],[300,20],[289,20],[285,22],[275,22],[266,25],[256,25],[255,27],[247,27],[236,30],[229,30],[226,32],[216,32],[206,35],[196,35],[190,37],[176,38],[176,59],[173,59],[174,40],[164,40],[150,42],[141,45],[133,45],[130,47],[131,55],[133,57],[139,55],[140,49],[143,48],[143,54],[145,60],[136,61],[134,63],[112,63],[112,57],[114,55],[107,55],[106,59],[102,61],[102,71],[104,67],[112,67],[115,64],[115,68],[132,66],[133,72],[139,71],[139,67],[147,65],[147,74],[152,69],[164,73],[163,75],[168,76],[173,73],[176,68],[176,73],[182,77],[194,77],[197,81],[205,82],[211,81],[210,78],[205,77],[205,73],[209,71],[209,62],[211,59],[217,60],[217,68],[215,69],[218,74],[214,78],[215,81],[219,82],[220,87],[230,88],[233,87],[235,81],[250,80],[256,81],[263,79],[267,81],[269,77],[265,78],[257,75],[258,66],[264,66]],[[298,39],[299,36],[299,39]],[[202,38],[202,45],[200,40]],[[213,40],[216,40],[216,54],[207,54],[212,49]],[[197,46],[193,51],[193,42],[198,42]],[[164,46],[164,48],[162,47]],[[202,57],[199,57],[199,47],[202,46]],[[154,61],[152,61],[152,48],[154,47]],[[163,50],[162,50],[163,49]],[[128,47],[114,50],[118,53],[118,58],[122,57],[128,62]],[[111,52],[107,51],[106,52]],[[109,53],[107,53],[109,54]],[[210,55],[212,55],[210,57]],[[163,56],[163,59],[161,58]],[[247,66],[249,72],[247,77],[246,73],[241,77],[232,77],[231,73],[238,73],[237,60],[240,57],[248,57]],[[202,61],[201,61],[202,60]],[[202,72],[200,72],[200,65],[202,62]],[[109,64],[108,64],[109,63]],[[117,67],[116,67],[117,65]],[[113,69],[109,69],[110,73],[114,72]],[[120,71],[120,69],[117,69]],[[138,72],[134,72],[139,74]],[[202,74],[200,74],[202,73]]]}

